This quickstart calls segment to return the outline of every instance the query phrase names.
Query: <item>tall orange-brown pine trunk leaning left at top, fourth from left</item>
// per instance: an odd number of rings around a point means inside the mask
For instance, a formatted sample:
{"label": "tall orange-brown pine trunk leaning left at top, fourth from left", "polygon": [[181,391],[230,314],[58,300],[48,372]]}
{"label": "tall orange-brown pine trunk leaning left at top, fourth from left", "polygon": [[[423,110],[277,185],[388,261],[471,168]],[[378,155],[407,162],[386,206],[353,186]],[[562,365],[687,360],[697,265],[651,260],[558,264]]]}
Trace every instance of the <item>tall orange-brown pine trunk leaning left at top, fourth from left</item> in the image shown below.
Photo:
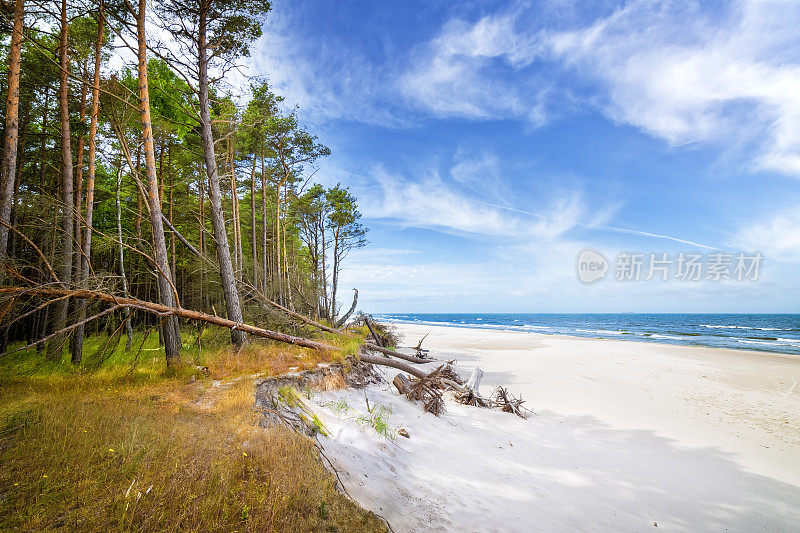
{"label": "tall orange-brown pine trunk leaning left at top, fourth from left", "polygon": [[[156,155],[153,145],[153,123],[150,118],[150,88],[147,79],[147,43],[145,40],[145,9],[147,0],[139,0],[139,12],[136,14],[136,33],[138,38],[138,71],[139,71],[139,112],[142,121],[142,140],[144,144],[145,171],[147,173],[147,202],[150,206],[150,226],[153,233],[153,249],[158,267],[158,292],[161,303],[167,307],[176,307],[177,295],[169,274],[167,244],[164,239],[164,224],[161,220],[161,202],[158,199],[158,178],[156,176]],[[162,327],[164,350],[167,365],[178,362],[181,349],[181,332],[178,317],[169,315]]]}

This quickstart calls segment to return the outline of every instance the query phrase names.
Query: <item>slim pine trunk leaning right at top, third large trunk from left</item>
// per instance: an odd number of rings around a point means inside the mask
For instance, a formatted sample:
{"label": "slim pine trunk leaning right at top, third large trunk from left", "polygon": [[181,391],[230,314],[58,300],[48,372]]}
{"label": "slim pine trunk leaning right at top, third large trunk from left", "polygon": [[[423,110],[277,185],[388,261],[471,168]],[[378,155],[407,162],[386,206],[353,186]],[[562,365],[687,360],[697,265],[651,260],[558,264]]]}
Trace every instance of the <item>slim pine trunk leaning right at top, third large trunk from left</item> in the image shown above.
{"label": "slim pine trunk leaning right at top, third large trunk from left", "polygon": [[[100,66],[103,61],[103,31],[105,30],[105,4],[100,0],[100,12],[97,16],[97,40],[94,46],[94,77],[92,78],[92,110],[89,124],[89,168],[86,172],[86,233],[83,237],[83,253],[80,254],[80,286],[86,287],[89,280],[89,257],[92,253],[92,217],[94,215],[94,180],[97,172],[97,125],[100,118]],[[78,145],[81,147],[81,143]],[[81,147],[82,148],[82,147]],[[80,161],[79,156],[79,161]],[[79,173],[80,174],[80,173]],[[119,194],[119,193],[117,193]],[[80,214],[80,211],[78,211]],[[80,242],[80,241],[79,241]],[[124,277],[123,277],[124,279]],[[86,318],[87,301],[78,302],[76,321]],[[75,329],[72,341],[72,364],[78,365],[83,354],[84,326]]]}

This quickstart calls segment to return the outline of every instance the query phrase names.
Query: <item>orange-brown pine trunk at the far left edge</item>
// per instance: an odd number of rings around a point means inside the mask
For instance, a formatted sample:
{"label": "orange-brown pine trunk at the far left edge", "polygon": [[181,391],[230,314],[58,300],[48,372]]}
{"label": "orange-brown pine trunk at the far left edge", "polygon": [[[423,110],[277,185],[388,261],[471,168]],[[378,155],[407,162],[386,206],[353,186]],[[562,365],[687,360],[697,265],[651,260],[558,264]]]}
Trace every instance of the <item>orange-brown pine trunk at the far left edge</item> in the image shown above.
{"label": "orange-brown pine trunk at the far left edge", "polygon": [[[22,22],[25,0],[14,3],[14,30],[8,52],[8,99],[6,101],[6,138],[3,166],[0,174],[0,220],[11,221],[14,203],[14,180],[17,174],[17,148],[19,141],[19,72],[22,50]],[[45,111],[46,112],[46,111]],[[44,142],[44,141],[42,141]],[[44,162],[42,162],[44,164]],[[0,284],[3,282],[3,263],[8,249],[8,228],[0,224]]]}

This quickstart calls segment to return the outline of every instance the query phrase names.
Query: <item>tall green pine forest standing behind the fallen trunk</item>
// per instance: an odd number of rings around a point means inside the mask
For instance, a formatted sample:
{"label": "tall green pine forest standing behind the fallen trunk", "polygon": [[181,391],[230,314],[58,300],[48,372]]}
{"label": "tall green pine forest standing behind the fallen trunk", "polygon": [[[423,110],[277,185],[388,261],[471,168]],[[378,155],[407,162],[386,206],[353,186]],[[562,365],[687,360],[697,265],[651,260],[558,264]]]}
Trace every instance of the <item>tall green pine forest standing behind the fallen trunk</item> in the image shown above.
{"label": "tall green pine forest standing behind the fallen trunk", "polygon": [[269,72],[240,69],[270,8],[3,4],[0,353],[81,365],[95,333],[130,349],[153,330],[171,365],[190,322],[150,303],[273,329],[291,327],[276,309],[352,315],[339,274],[367,242],[357,199],[315,183],[330,149]]}

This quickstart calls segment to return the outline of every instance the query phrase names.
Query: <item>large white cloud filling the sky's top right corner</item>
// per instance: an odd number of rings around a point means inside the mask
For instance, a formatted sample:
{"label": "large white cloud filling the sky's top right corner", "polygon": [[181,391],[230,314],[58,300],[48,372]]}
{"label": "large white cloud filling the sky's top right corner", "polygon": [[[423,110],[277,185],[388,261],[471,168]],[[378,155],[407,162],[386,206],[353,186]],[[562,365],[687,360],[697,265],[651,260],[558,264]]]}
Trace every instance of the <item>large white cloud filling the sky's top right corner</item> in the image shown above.
{"label": "large white cloud filling the sky's top right corner", "polygon": [[602,82],[612,118],[673,144],[766,136],[756,165],[800,173],[796,6],[744,1],[712,17],[695,4],[635,2],[547,42]]}

